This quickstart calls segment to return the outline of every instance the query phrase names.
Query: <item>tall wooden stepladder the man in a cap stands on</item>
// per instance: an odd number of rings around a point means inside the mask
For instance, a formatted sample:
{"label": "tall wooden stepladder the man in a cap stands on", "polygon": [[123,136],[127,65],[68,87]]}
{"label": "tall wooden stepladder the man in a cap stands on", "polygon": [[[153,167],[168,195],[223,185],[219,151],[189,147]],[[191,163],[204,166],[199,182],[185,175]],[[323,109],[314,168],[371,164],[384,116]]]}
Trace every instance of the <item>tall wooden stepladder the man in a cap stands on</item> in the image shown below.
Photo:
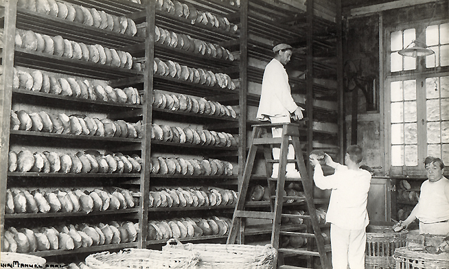
{"label": "tall wooden stepladder the man in a cap stands on", "polygon": [[[281,137],[262,137],[263,130],[270,130],[271,128],[282,128]],[[277,249],[277,265],[281,269],[294,269],[301,268],[297,266],[284,265],[284,254],[288,255],[303,255],[308,259],[308,266],[312,266],[312,257],[320,257],[321,267],[323,269],[330,269],[329,259],[327,259],[326,250],[324,246],[323,235],[321,235],[321,229],[319,221],[316,216],[316,209],[312,198],[312,179],[309,178],[306,165],[303,159],[303,152],[301,150],[301,143],[299,142],[299,126],[298,124],[257,124],[253,125],[253,135],[251,138],[251,146],[249,148],[248,157],[243,172],[242,184],[238,191],[238,202],[235,205],[235,210],[232,218],[231,231],[229,232],[227,244],[235,244],[236,239],[244,238],[244,218],[254,219],[266,219],[272,220],[273,229],[271,231],[271,245]],[[269,131],[268,131],[269,133]],[[291,140],[289,139],[291,137]],[[286,165],[293,160],[287,160],[288,145],[292,143],[295,148],[294,160],[299,167],[299,173],[301,178],[287,179],[289,181],[295,181],[302,183],[303,191],[306,198],[307,211],[309,215],[295,215],[282,213],[282,204],[285,199],[298,199],[297,196],[284,196],[284,185],[286,182]],[[281,145],[281,153],[279,161],[273,160],[271,151],[273,145]],[[247,211],[245,210],[246,193],[248,191],[249,180],[251,178],[251,172],[253,170],[255,154],[259,147],[264,148],[264,156],[266,161],[266,172],[268,181],[268,190],[272,191],[270,194],[275,193],[275,196],[270,196],[271,211]],[[271,167],[273,163],[279,162],[278,178],[270,178]],[[302,197],[303,198],[303,197]],[[281,229],[281,217],[287,218],[303,218],[304,223],[307,225],[306,233],[299,233],[293,231],[282,231]],[[279,248],[279,235],[299,235],[308,238],[307,248]],[[312,249],[312,240],[315,239],[316,250]]]}

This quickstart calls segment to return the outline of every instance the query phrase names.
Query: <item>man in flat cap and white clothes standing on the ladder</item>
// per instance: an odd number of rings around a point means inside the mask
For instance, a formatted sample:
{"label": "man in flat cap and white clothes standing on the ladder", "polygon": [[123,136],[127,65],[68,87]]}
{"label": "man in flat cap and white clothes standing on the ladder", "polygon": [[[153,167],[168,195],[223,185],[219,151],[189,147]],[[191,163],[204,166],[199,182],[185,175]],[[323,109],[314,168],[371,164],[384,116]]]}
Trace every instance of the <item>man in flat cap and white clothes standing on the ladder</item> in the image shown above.
{"label": "man in flat cap and white clothes standing on the ladder", "polygon": [[[303,118],[300,106],[297,106],[292,98],[288,74],[284,65],[290,61],[292,47],[287,44],[279,44],[273,47],[275,58],[265,67],[262,79],[262,93],[260,94],[257,119],[269,120],[272,124],[290,123],[290,117],[295,121]],[[282,136],[282,128],[272,128],[273,137]],[[273,159],[279,160],[280,148],[273,148]],[[287,159],[295,159],[293,145],[288,145]],[[277,178],[279,163],[273,164],[272,178]],[[301,178],[295,163],[288,163],[286,167],[286,178]]]}

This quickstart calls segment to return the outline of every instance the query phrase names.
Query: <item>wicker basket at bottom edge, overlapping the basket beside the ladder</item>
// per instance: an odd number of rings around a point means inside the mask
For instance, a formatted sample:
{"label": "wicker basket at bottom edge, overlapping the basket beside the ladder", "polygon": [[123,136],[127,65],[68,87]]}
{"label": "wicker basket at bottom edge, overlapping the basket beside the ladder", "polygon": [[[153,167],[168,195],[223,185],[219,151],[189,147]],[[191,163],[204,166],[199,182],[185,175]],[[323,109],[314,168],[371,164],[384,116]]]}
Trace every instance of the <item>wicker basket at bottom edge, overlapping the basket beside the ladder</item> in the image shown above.
{"label": "wicker basket at bottom edge, overlapping the basket beside the ladder", "polygon": [[196,269],[198,257],[192,251],[159,251],[126,248],[118,253],[94,253],[86,257],[86,264],[93,269]]}

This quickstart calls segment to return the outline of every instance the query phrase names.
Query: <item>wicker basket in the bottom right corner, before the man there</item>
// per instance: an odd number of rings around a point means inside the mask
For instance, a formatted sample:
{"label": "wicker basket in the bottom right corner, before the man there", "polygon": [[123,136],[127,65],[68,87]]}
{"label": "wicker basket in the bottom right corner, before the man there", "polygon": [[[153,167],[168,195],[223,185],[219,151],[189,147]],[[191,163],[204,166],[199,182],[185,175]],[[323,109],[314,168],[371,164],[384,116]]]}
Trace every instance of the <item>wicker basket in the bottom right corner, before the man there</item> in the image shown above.
{"label": "wicker basket in the bottom right corner, before the man there", "polygon": [[422,248],[396,248],[396,269],[449,269],[449,253],[424,253]]}

